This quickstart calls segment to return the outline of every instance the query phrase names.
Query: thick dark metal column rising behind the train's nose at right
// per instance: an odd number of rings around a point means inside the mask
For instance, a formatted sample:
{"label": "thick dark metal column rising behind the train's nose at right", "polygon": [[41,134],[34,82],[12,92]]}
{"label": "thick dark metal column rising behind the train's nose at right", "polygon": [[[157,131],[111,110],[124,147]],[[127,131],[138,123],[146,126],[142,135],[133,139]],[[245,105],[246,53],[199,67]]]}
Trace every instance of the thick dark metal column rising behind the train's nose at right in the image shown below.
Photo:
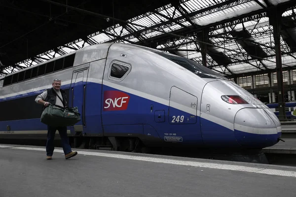
{"label": "thick dark metal column rising behind the train's nose at right", "polygon": [[275,45],[275,58],[276,58],[276,75],[278,84],[278,103],[279,103],[279,120],[287,121],[285,112],[285,99],[284,99],[284,83],[283,83],[283,67],[281,56],[281,43],[280,43],[280,30],[281,30],[281,17],[283,11],[275,7],[269,13],[269,21],[273,26],[273,38]]}

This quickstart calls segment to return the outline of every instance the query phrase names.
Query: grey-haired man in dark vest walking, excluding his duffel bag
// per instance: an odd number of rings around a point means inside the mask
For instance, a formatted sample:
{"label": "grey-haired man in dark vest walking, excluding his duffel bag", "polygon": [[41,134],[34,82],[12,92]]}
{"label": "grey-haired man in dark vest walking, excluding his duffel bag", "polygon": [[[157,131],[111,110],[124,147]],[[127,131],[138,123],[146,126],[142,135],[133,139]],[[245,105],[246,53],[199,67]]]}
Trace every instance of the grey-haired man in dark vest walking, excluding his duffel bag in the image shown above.
{"label": "grey-haired man in dark vest walking, excluding his duffel bag", "polygon": [[[67,107],[67,97],[64,90],[60,89],[62,85],[61,79],[54,79],[52,88],[45,90],[42,94],[38,95],[35,101],[43,105],[43,109],[50,103]],[[59,131],[61,136],[62,146],[65,153],[65,158],[69,159],[77,155],[76,151],[72,151],[69,137],[67,135],[67,127],[51,127],[47,126],[47,142],[46,142],[46,160],[51,160],[54,151],[54,136],[56,131]]]}

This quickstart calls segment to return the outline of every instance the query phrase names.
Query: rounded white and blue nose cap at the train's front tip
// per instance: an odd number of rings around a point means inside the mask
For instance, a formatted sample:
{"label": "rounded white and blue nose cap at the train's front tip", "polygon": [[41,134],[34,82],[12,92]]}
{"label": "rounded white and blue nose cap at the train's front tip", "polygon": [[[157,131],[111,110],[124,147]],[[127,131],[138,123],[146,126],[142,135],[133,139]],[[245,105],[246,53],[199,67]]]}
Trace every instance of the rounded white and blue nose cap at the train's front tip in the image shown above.
{"label": "rounded white and blue nose cap at the train's front tip", "polygon": [[264,148],[278,142],[278,128],[262,108],[240,109],[234,118],[234,135],[243,147]]}

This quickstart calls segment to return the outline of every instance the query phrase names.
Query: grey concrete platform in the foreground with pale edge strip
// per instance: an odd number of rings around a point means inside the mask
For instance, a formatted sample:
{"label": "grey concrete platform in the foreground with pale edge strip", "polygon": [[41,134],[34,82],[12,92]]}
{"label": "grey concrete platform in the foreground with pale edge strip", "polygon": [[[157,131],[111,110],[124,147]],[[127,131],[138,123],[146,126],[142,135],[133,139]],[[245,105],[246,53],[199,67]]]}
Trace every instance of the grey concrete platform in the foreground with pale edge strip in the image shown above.
{"label": "grey concrete platform in the foreground with pale edge strip", "polygon": [[0,145],[0,197],[293,197],[296,167]]}

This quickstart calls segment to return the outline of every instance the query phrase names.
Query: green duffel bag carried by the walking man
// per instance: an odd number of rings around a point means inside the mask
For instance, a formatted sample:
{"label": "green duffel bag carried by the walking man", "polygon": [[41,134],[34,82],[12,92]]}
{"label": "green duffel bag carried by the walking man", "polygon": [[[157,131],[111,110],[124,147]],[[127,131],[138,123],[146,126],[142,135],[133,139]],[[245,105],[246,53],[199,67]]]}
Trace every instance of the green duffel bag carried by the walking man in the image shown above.
{"label": "green duffel bag carried by the walking man", "polygon": [[49,104],[43,110],[40,121],[52,127],[73,126],[81,120],[77,107],[61,107]]}

